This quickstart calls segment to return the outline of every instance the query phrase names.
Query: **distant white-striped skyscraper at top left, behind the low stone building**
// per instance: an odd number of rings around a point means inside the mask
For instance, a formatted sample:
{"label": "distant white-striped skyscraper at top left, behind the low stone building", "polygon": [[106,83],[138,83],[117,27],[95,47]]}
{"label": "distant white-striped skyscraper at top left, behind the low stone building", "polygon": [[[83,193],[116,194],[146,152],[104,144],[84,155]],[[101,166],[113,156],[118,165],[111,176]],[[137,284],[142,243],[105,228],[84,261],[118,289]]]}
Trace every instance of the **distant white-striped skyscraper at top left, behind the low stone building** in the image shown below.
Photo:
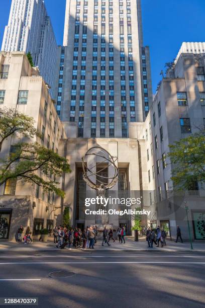
{"label": "distant white-striped skyscraper at top left, behind the low stone building", "polygon": [[2,51],[30,52],[35,66],[53,88],[57,44],[43,0],[12,0]]}

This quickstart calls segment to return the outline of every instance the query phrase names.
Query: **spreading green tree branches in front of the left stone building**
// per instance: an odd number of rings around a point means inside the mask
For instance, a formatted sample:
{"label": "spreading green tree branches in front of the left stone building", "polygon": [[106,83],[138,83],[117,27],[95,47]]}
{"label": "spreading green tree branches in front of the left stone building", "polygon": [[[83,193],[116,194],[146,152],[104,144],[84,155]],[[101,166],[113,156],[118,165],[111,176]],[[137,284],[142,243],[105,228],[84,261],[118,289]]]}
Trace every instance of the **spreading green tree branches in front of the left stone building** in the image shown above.
{"label": "spreading green tree branches in front of the left stone building", "polygon": [[[0,185],[11,179],[24,180],[39,185],[45,192],[64,197],[55,179],[71,172],[68,161],[38,142],[32,142],[35,136],[40,134],[34,128],[33,118],[15,109],[0,109],[0,153],[9,137],[17,140],[9,156],[1,160]],[[54,180],[48,179],[48,174]]]}

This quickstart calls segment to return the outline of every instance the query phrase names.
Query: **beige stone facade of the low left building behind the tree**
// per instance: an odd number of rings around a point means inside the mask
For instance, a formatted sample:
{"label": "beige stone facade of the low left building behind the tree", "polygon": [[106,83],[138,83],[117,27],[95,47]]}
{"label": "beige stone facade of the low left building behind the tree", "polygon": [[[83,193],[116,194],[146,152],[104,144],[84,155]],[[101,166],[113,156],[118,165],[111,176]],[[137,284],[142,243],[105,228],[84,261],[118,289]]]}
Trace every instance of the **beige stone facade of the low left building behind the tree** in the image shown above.
{"label": "beige stone facade of the low left building behind the tree", "polygon": [[[64,156],[64,152],[61,153],[60,146],[61,138],[65,138],[64,129],[56,113],[56,108],[49,95],[47,86],[42,76],[39,75],[38,70],[31,67],[24,52],[1,52],[0,64],[1,68],[6,65],[8,68],[8,75],[4,75],[4,78],[0,79],[0,91],[4,93],[4,101],[1,101],[0,107],[3,109],[14,108],[33,117],[35,128],[39,132],[42,132],[43,126],[45,128],[44,141],[39,137],[35,137],[33,141],[37,141],[50,148],[53,147],[55,151],[58,150],[60,155]],[[28,91],[26,104],[18,104],[19,91]],[[45,102],[47,103],[46,115],[44,112]],[[49,143],[48,136],[50,136]],[[0,154],[1,159],[9,156],[11,145],[16,141],[18,140],[15,138],[8,138],[3,143]],[[61,182],[61,179],[59,181]],[[35,220],[37,220],[36,222],[42,222],[43,219],[42,227],[54,224],[56,220],[61,221],[61,198],[55,197],[53,199],[51,196],[49,201],[48,195],[44,195],[41,189],[37,192],[36,185],[20,181],[17,182],[15,195],[6,195],[5,185],[2,185],[0,187],[1,218],[3,213],[6,213],[7,217],[11,213],[11,218],[9,218],[11,219],[9,240],[13,241],[21,224],[25,228],[28,225],[33,228],[36,225]]]}

